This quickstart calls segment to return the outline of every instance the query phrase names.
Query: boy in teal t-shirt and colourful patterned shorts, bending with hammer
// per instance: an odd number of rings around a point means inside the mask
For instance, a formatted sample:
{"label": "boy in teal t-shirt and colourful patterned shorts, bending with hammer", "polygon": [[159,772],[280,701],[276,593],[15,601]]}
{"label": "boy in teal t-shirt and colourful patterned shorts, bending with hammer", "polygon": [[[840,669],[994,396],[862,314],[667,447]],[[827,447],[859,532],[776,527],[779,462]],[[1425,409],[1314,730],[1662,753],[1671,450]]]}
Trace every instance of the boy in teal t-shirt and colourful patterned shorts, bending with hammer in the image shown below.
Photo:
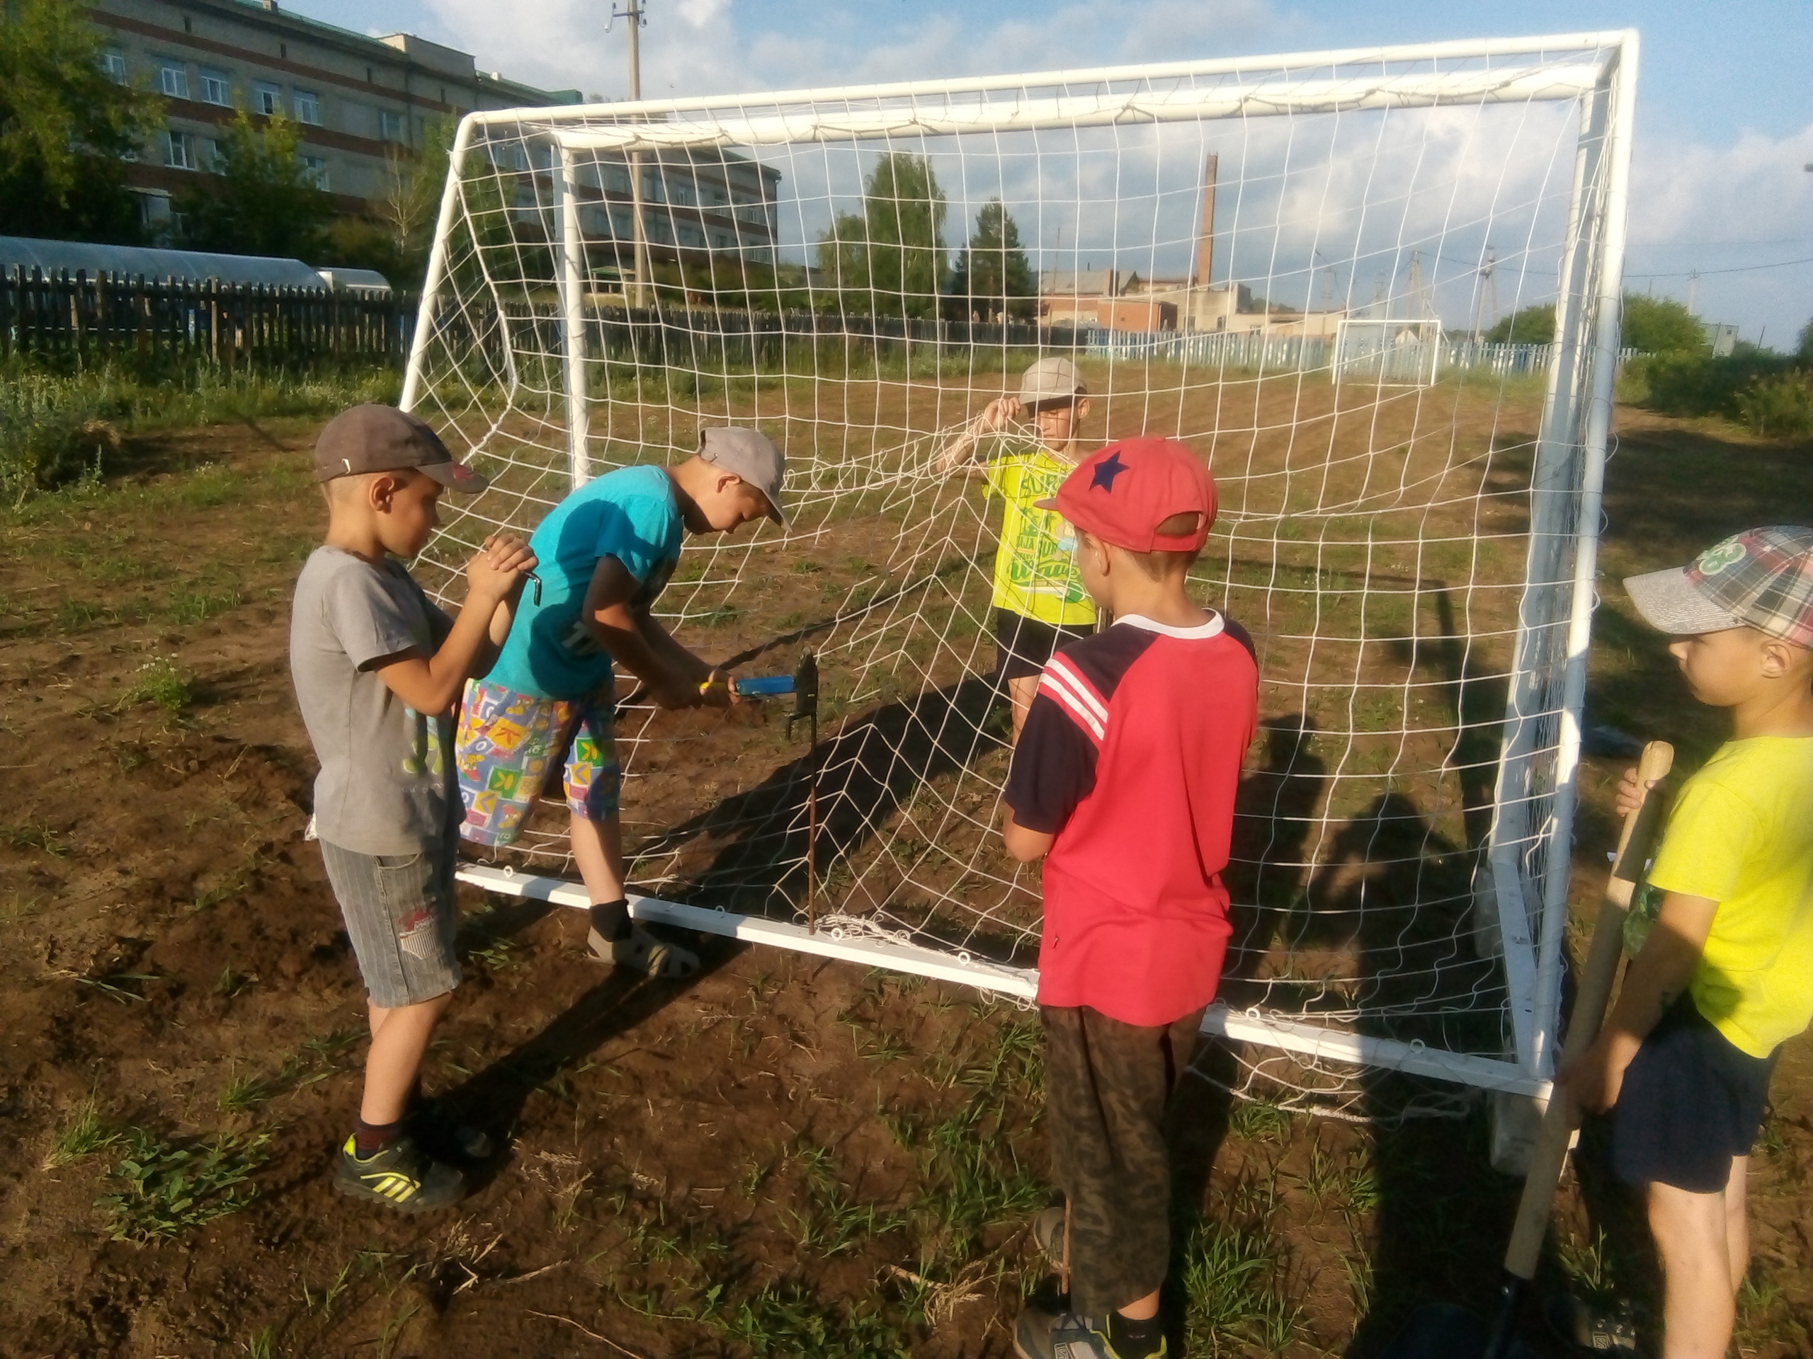
{"label": "boy in teal t-shirt and colourful patterned shorts, bending with hammer", "polygon": [[616,663],[664,708],[725,707],[729,685],[651,609],[687,533],[734,533],[780,511],[783,458],[754,429],[707,429],[676,467],[624,467],[555,506],[529,540],[540,594],[524,596],[497,665],[466,687],[455,765],[477,844],[509,844],[557,772],[573,863],[591,897],[593,953],[660,977],[698,968],[689,951],[631,926],[618,819]]}

